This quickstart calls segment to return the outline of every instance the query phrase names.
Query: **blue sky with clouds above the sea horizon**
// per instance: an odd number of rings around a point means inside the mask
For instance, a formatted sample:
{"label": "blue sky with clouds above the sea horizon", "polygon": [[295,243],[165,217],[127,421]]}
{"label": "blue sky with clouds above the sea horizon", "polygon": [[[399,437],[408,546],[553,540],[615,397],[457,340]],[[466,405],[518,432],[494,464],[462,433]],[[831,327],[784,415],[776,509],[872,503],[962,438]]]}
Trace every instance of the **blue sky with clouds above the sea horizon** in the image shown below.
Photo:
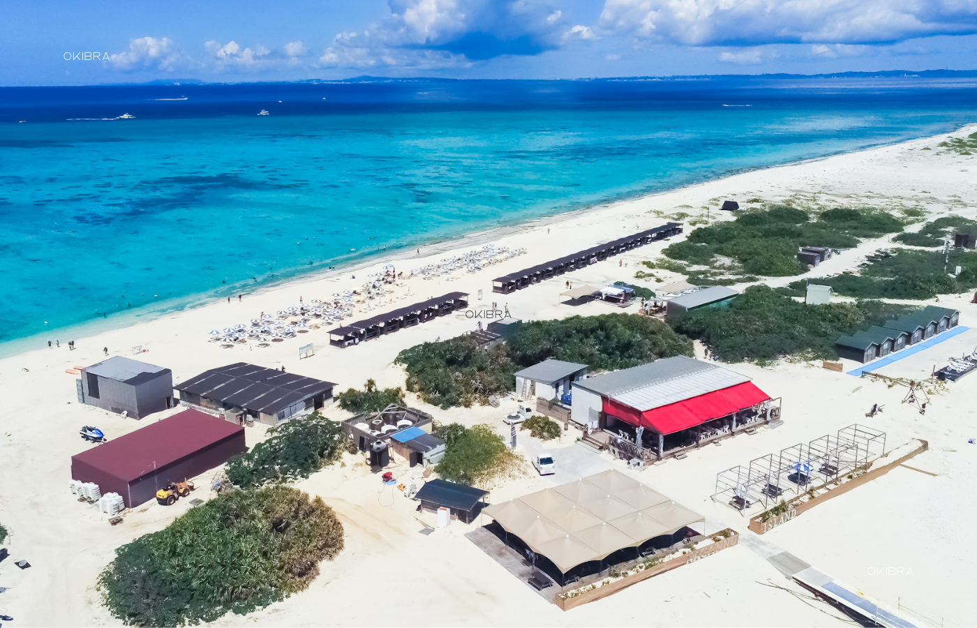
{"label": "blue sky with clouds above the sea horizon", "polygon": [[977,68],[977,0],[4,0],[0,8],[2,85]]}

